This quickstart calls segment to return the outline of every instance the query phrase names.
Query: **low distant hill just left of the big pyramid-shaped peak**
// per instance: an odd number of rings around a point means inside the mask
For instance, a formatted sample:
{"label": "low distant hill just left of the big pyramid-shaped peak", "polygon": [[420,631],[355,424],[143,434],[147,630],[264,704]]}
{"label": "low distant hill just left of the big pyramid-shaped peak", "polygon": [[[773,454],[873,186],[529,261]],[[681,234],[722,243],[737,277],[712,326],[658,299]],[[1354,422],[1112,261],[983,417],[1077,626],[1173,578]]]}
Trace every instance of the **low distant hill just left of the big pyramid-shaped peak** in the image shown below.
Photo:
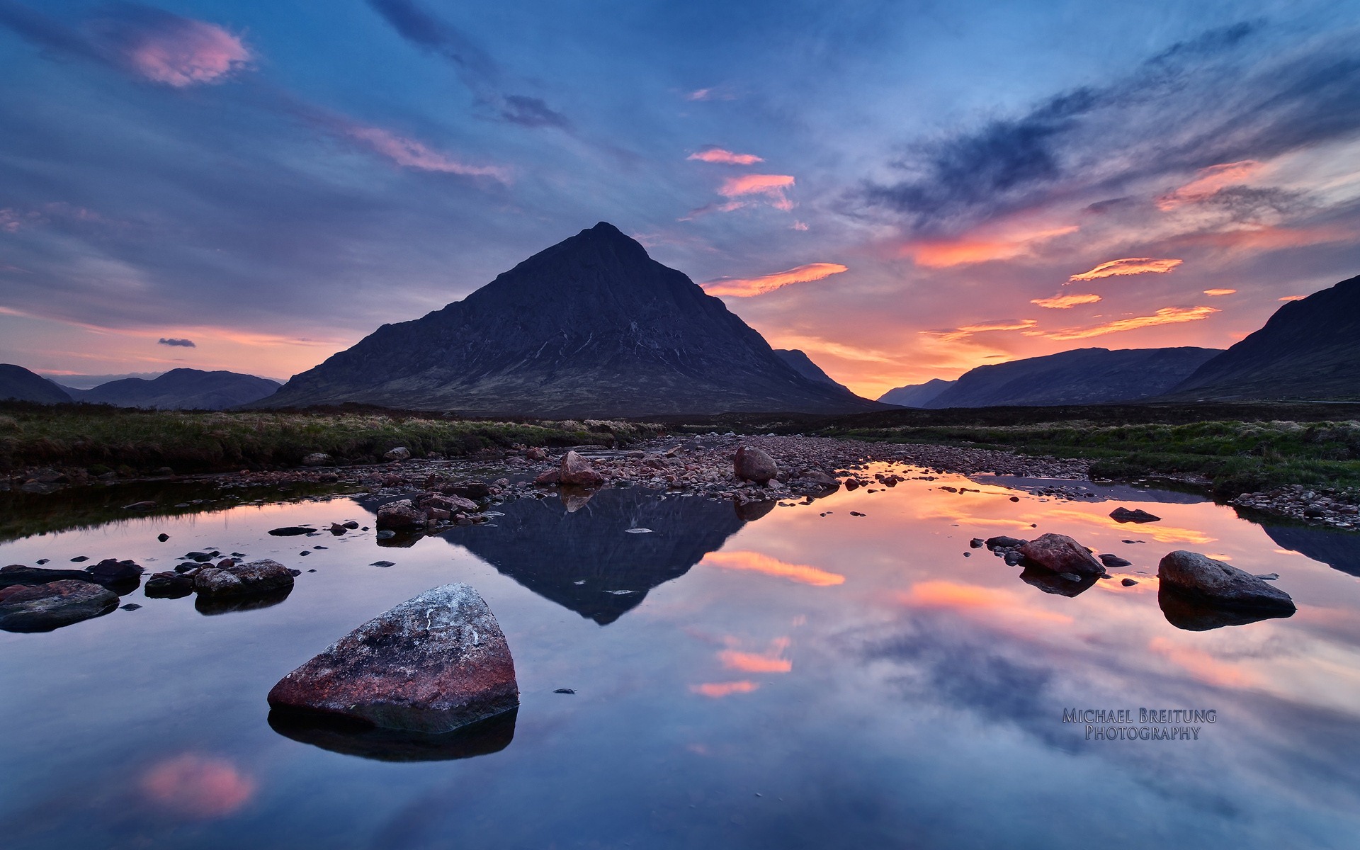
{"label": "low distant hill just left of the big pyramid-shaped peak", "polygon": [[171,369],[159,378],[124,378],[94,389],[71,389],[78,401],[166,411],[220,411],[273,394],[277,381],[234,371]]}

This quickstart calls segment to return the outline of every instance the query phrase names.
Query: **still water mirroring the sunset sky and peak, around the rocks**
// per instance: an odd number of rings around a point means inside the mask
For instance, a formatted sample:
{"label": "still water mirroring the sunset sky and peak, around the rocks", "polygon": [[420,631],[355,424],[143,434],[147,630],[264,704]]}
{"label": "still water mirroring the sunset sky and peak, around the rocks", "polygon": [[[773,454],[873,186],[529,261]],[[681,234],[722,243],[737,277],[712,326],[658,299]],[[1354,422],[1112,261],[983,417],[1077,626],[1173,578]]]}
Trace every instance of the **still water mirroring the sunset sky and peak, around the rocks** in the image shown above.
{"label": "still water mirroring the sunset sky and peak, around the rocks", "polygon": [[[209,616],[139,590],[122,598],[136,611],[0,632],[0,843],[1360,846],[1360,536],[1266,528],[1175,492],[1092,486],[1055,502],[1032,484],[911,477],[763,515],[623,488],[382,541],[408,545],[267,533],[371,525],[373,505],[340,496],[3,543],[0,563],[156,571],[219,549],[303,573],[268,608]],[[1119,525],[1119,505],[1163,520]],[[1055,588],[968,545],[1044,532],[1133,566]],[[1297,613],[1172,626],[1156,564],[1179,548],[1278,573]],[[271,726],[280,676],[456,581],[514,653],[511,726],[415,755]],[[1064,709],[1216,721],[1197,740],[1088,740]]]}

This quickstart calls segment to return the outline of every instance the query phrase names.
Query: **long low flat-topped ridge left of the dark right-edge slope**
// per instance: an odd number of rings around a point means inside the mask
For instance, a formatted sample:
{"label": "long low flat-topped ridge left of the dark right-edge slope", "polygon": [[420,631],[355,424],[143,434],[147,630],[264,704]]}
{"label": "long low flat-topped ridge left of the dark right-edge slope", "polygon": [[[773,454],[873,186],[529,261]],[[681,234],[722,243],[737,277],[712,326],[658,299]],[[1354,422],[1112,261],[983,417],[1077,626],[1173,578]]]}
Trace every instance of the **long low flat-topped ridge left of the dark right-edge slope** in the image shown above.
{"label": "long low flat-topped ridge left of the dark right-edge slope", "polygon": [[928,408],[1104,404],[1160,396],[1217,348],[1074,348],[1042,358],[979,366],[928,401]]}

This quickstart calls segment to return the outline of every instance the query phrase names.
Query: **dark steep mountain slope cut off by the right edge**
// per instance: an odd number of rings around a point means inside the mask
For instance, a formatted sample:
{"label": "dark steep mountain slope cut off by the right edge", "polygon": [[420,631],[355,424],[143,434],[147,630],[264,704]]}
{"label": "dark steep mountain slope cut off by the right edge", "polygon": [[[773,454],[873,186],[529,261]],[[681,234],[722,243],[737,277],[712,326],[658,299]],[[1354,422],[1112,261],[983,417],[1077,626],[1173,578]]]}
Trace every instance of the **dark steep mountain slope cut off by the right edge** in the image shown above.
{"label": "dark steep mountain slope cut off by the right edge", "polygon": [[1360,277],[1284,305],[1172,393],[1214,401],[1360,397]]}

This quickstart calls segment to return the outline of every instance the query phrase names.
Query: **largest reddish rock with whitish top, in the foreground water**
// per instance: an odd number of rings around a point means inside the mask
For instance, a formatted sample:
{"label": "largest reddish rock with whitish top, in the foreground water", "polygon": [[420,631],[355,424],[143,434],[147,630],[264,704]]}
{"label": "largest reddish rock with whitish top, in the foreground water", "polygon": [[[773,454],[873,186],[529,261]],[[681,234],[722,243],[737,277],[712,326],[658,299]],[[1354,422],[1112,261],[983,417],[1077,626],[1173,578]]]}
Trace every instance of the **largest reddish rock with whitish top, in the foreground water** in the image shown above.
{"label": "largest reddish rock with whitish top, in the foreground water", "polygon": [[416,732],[449,732],[518,704],[510,647],[468,585],[434,588],[401,602],[269,691],[273,709]]}

